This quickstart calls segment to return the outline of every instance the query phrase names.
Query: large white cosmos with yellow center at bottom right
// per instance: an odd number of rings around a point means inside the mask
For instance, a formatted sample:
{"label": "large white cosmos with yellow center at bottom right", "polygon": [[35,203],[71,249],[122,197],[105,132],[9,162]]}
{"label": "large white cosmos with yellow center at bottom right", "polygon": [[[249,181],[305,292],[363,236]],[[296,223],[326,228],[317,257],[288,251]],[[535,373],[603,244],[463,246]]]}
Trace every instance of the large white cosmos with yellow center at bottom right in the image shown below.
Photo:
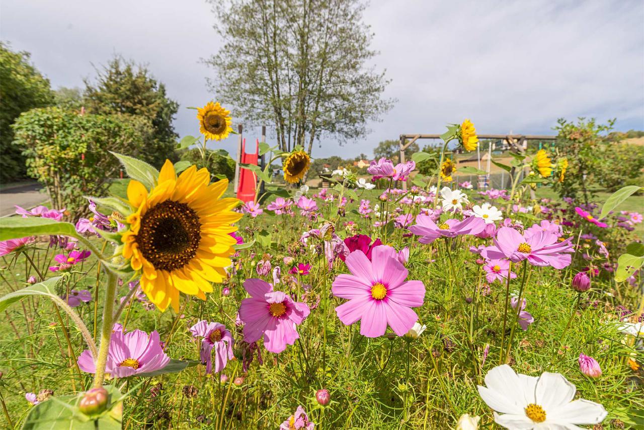
{"label": "large white cosmos with yellow center at bottom right", "polygon": [[581,430],[577,424],[598,424],[607,415],[598,403],[573,400],[576,388],[561,373],[517,375],[503,364],[488,372],[485,383],[478,394],[495,410],[494,421],[507,429]]}

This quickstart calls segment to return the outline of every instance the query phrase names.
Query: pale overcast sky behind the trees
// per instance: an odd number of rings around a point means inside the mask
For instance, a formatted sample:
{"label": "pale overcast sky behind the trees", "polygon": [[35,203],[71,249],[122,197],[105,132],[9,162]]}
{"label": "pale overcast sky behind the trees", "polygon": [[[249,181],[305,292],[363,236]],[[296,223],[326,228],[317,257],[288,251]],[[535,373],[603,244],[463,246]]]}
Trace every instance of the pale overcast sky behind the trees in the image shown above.
{"label": "pale overcast sky behind the trees", "polygon": [[[113,54],[147,63],[180,103],[184,136],[198,133],[186,107],[213,97],[213,71],[200,63],[221,46],[213,21],[202,0],[2,0],[0,39],[31,52],[53,88],[82,87],[92,63]],[[644,129],[641,0],[374,0],[365,21],[380,52],[374,64],[392,79],[385,96],[398,101],[366,139],[340,152],[323,141],[314,157],[372,157],[381,140],[442,133],[464,117],[479,133],[551,134],[558,117],[579,116]],[[223,147],[235,144],[229,137]]]}

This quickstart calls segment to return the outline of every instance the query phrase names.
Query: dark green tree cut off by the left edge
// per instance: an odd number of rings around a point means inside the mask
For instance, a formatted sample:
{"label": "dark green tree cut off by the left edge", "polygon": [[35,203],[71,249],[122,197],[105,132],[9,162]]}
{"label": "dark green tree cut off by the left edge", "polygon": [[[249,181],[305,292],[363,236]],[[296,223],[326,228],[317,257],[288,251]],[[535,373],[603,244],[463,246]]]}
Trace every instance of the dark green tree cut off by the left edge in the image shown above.
{"label": "dark green tree cut off by the left edge", "polygon": [[11,125],[22,112],[53,102],[49,79],[30,63],[28,52],[0,42],[0,181],[26,176],[24,156],[12,142]]}

